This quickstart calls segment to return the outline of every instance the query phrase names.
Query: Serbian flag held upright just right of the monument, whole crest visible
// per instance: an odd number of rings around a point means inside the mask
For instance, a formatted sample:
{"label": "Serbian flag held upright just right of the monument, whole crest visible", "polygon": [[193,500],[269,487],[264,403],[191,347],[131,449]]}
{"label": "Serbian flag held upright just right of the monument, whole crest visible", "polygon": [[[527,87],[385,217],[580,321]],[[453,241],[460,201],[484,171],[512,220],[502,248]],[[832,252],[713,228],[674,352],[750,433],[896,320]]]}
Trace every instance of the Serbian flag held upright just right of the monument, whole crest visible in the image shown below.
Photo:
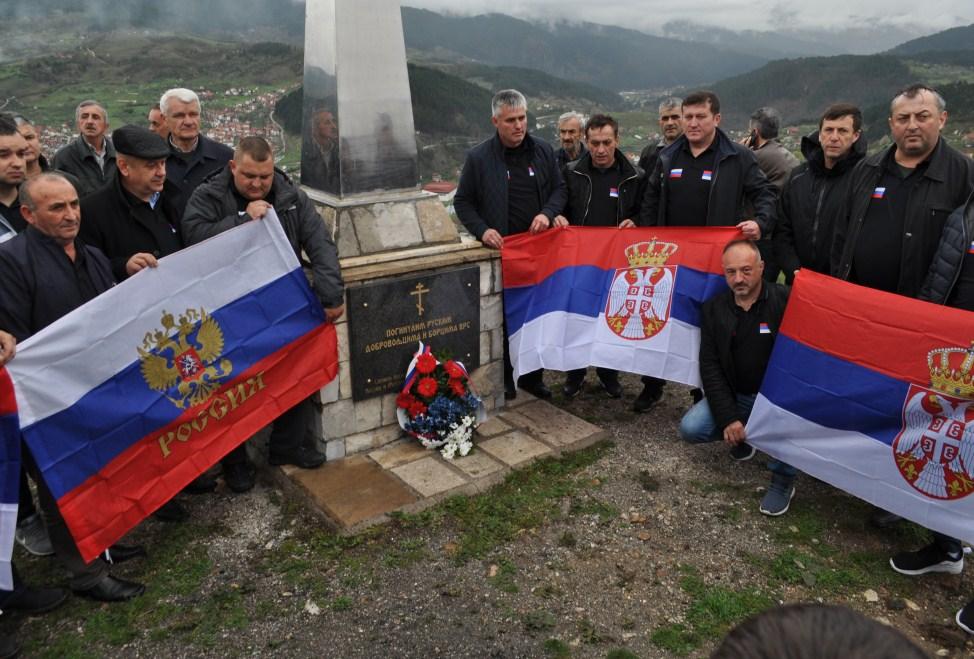
{"label": "Serbian flag held upright just right of the monument, whole crest visible", "polygon": [[603,366],[700,384],[700,305],[726,288],[730,228],[564,227],[504,239],[514,376]]}

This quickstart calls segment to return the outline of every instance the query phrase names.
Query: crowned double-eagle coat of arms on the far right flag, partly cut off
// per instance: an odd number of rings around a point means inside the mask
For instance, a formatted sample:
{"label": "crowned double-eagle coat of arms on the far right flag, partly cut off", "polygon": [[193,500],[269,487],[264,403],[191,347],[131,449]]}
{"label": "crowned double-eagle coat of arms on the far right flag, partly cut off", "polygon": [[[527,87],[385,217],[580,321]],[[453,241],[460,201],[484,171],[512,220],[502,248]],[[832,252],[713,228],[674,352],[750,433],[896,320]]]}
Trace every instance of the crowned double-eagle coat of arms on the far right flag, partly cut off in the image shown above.
{"label": "crowned double-eagle coat of arms on the far right flag, partly cut off", "polygon": [[934,499],[974,492],[974,343],[927,355],[930,388],[910,386],[893,441],[903,478]]}

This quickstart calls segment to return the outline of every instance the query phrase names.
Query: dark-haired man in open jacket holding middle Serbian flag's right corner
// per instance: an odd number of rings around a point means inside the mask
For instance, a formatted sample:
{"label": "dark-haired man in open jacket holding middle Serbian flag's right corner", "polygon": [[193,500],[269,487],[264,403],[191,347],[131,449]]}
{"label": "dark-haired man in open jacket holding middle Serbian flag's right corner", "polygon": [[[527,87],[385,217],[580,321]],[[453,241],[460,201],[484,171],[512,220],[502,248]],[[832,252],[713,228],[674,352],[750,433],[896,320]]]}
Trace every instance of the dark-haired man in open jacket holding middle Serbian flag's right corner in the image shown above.
{"label": "dark-haired man in open jacket holding middle Serbian flag's right corner", "polygon": [[[736,226],[751,240],[771,232],[777,196],[754,153],[720,130],[720,99],[710,91],[683,100],[683,135],[659,152],[639,211],[640,226]],[[744,217],[744,201],[754,209]],[[663,395],[664,380],[643,378],[633,410]],[[696,399],[696,396],[695,396]]]}

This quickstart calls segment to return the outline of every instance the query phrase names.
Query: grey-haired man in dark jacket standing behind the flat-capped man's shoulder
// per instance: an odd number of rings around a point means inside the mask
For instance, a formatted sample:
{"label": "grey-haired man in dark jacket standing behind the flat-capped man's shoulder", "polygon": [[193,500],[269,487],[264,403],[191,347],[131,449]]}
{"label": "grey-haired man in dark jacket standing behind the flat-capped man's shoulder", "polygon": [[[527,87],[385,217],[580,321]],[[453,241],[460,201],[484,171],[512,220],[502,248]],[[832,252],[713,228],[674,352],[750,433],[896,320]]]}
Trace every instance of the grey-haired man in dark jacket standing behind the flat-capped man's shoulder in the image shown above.
{"label": "grey-haired man in dark jacket standing behind the flat-capped man's shoulder", "polygon": [[115,176],[115,147],[108,139],[108,111],[98,101],[81,101],[74,111],[78,137],[54,154],[54,169],[78,182],[78,195],[98,190]]}

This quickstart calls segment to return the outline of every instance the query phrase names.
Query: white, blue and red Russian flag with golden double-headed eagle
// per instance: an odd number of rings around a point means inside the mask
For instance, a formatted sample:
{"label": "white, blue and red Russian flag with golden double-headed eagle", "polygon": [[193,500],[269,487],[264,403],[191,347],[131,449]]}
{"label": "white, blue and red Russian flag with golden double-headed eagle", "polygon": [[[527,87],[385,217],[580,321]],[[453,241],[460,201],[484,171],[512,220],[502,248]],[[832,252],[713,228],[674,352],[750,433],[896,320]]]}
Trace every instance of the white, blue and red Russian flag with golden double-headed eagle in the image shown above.
{"label": "white, blue and red Russian flag with golden double-headed eagle", "polygon": [[7,369],[23,437],[91,560],[337,366],[334,326],[271,212],[76,309]]}

